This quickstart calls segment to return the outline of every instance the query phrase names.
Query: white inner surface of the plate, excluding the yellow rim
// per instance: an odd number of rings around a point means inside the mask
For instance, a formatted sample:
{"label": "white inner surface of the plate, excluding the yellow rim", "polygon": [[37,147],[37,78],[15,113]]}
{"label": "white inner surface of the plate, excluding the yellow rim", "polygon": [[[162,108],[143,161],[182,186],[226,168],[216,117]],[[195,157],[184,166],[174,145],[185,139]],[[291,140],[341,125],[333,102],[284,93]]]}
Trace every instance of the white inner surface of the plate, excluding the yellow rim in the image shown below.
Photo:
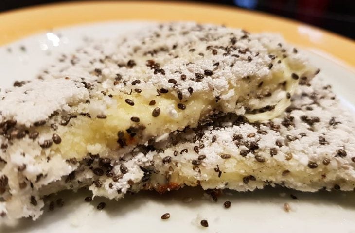
{"label": "white inner surface of the plate, excluding the yellow rim", "polygon": [[[107,22],[75,26],[41,33],[0,47],[0,87],[15,80],[34,79],[39,70],[55,61],[60,53],[80,47],[85,36],[116,37],[146,26],[143,22]],[[25,48],[25,51],[21,49]],[[329,78],[327,82],[349,107],[355,105],[355,73],[337,59],[312,48],[304,48],[311,62]],[[0,103],[1,104],[1,103]],[[293,194],[297,199],[292,199]],[[70,191],[52,195],[46,202],[63,198],[65,205],[45,213],[37,221],[23,219],[0,225],[0,233],[355,233],[355,192],[302,193],[283,188],[267,188],[255,192],[225,191],[218,202],[204,197],[198,188],[183,188],[162,196],[144,192],[113,201],[97,198],[84,201],[88,191]],[[184,197],[192,197],[185,203]],[[229,209],[223,207],[232,202]],[[104,210],[97,210],[100,201]],[[284,211],[289,203],[290,212]],[[45,207],[48,209],[48,205]],[[170,219],[160,216],[169,212]],[[207,219],[209,227],[199,222]]]}

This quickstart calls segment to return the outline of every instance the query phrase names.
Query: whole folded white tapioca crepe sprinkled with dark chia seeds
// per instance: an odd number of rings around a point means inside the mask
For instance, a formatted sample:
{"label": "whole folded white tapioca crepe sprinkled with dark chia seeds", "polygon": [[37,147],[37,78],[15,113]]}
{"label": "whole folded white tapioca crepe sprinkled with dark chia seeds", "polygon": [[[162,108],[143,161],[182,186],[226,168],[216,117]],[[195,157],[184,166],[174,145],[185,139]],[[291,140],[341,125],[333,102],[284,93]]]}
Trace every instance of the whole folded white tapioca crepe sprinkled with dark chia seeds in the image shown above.
{"label": "whole folded white tapioca crepe sprinkled with dark chia seeds", "polygon": [[214,25],[87,41],[0,93],[1,216],[81,187],[353,189],[353,117],[319,72],[280,36]]}

